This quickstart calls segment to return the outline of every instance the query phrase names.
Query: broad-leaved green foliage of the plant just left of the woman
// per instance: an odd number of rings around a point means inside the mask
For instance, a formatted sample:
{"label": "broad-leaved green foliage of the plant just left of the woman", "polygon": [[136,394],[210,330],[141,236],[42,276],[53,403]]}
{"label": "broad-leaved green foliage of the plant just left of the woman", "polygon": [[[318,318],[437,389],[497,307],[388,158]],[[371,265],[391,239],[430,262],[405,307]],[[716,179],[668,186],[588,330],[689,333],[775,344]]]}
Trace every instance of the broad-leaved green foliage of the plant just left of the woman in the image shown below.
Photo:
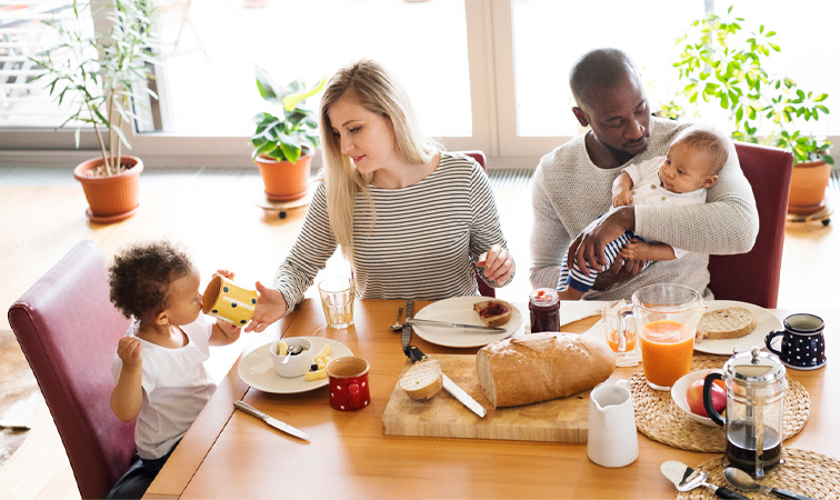
{"label": "broad-leaved green foliage of the plant just left of the woman", "polygon": [[306,100],[323,90],[327,77],[307,90],[301,80],[288,86],[278,86],[271,76],[259,66],[257,88],[262,99],[274,104],[279,114],[257,113],[253,121],[257,129],[251,136],[253,157],[263,156],[277,161],[297,163],[301,154],[320,146],[318,118],[316,112],[303,107]]}

